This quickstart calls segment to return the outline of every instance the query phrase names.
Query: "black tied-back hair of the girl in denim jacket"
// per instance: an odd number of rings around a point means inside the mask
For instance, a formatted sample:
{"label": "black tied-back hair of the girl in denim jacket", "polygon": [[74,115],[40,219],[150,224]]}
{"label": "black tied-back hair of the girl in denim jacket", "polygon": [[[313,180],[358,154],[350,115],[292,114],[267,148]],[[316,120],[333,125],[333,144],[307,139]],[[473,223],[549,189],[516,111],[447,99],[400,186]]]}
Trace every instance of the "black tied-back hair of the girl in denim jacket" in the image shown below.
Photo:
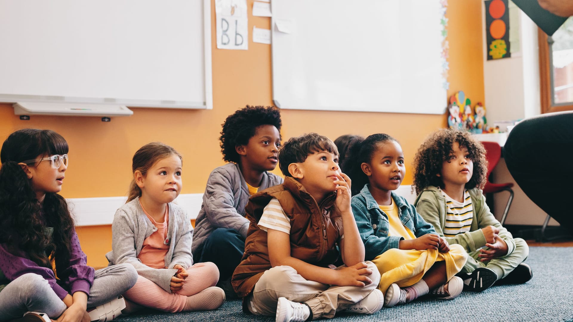
{"label": "black tied-back hair of the girl in denim jacket", "polygon": [[398,142],[390,135],[384,133],[372,134],[368,138],[356,138],[352,140],[346,159],[342,163],[342,171],[352,180],[351,193],[356,195],[368,183],[368,176],[362,171],[362,163],[369,163],[378,148],[378,144],[386,142]]}

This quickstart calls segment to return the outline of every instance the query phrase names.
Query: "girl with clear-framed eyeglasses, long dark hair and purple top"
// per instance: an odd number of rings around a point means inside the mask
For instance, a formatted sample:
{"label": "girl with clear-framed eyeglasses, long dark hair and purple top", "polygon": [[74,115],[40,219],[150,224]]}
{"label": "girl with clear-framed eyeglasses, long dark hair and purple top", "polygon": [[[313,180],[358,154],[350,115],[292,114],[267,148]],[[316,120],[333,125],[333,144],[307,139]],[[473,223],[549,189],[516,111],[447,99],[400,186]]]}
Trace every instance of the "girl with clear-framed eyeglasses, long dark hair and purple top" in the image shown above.
{"label": "girl with clear-framed eyeglasses, long dark hair and purple top", "polygon": [[[111,321],[137,272],[87,265],[58,193],[68,143],[50,130],[11,133],[0,151],[0,321]],[[105,308],[104,308],[105,307]]]}

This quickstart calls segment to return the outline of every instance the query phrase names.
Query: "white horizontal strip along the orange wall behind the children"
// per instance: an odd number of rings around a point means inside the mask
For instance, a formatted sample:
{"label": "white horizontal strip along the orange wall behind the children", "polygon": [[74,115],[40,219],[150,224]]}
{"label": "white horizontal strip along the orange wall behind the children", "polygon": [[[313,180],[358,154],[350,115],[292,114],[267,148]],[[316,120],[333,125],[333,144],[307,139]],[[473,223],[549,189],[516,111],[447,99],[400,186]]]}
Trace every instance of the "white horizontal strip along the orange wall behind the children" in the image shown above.
{"label": "white horizontal strip along the orange wall behind the children", "polygon": [[[416,195],[410,185],[400,186],[396,193],[414,203]],[[127,197],[69,198],[70,210],[76,219],[76,226],[111,225],[115,211],[127,201]],[[203,194],[180,194],[175,202],[187,210],[191,219],[197,218]]]}

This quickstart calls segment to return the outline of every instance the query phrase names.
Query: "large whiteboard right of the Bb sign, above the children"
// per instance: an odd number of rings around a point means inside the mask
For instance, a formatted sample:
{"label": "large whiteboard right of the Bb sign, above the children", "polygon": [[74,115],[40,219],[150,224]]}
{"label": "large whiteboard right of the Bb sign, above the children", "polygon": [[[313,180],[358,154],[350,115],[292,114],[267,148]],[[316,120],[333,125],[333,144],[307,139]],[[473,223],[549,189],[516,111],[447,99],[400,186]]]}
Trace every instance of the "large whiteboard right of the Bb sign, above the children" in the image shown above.
{"label": "large whiteboard right of the Bb sign, above the children", "polygon": [[439,0],[272,0],[275,104],[444,113],[443,10]]}

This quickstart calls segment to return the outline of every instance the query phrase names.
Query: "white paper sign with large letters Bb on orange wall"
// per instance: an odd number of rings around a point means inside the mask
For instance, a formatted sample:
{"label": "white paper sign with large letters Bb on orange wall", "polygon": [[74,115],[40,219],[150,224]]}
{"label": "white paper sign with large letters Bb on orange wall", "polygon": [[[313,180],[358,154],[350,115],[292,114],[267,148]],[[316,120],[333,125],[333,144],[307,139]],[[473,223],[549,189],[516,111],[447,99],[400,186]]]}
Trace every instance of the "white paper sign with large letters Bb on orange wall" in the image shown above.
{"label": "white paper sign with large letters Bb on orange wall", "polygon": [[249,49],[246,0],[215,0],[217,48]]}

